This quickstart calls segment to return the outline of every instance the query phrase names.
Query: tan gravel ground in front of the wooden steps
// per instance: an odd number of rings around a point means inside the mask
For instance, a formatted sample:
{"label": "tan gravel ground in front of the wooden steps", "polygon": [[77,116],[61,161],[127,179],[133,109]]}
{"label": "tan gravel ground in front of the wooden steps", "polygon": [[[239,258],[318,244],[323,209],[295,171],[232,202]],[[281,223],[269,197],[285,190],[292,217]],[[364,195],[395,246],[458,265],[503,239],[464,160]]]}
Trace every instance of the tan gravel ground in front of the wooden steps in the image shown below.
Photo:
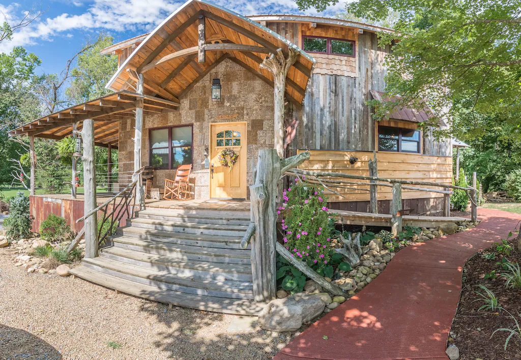
{"label": "tan gravel ground in front of the wooden steps", "polygon": [[290,340],[227,332],[233,315],[168,309],[81,279],[27,274],[12,257],[0,249],[1,360],[263,360]]}

